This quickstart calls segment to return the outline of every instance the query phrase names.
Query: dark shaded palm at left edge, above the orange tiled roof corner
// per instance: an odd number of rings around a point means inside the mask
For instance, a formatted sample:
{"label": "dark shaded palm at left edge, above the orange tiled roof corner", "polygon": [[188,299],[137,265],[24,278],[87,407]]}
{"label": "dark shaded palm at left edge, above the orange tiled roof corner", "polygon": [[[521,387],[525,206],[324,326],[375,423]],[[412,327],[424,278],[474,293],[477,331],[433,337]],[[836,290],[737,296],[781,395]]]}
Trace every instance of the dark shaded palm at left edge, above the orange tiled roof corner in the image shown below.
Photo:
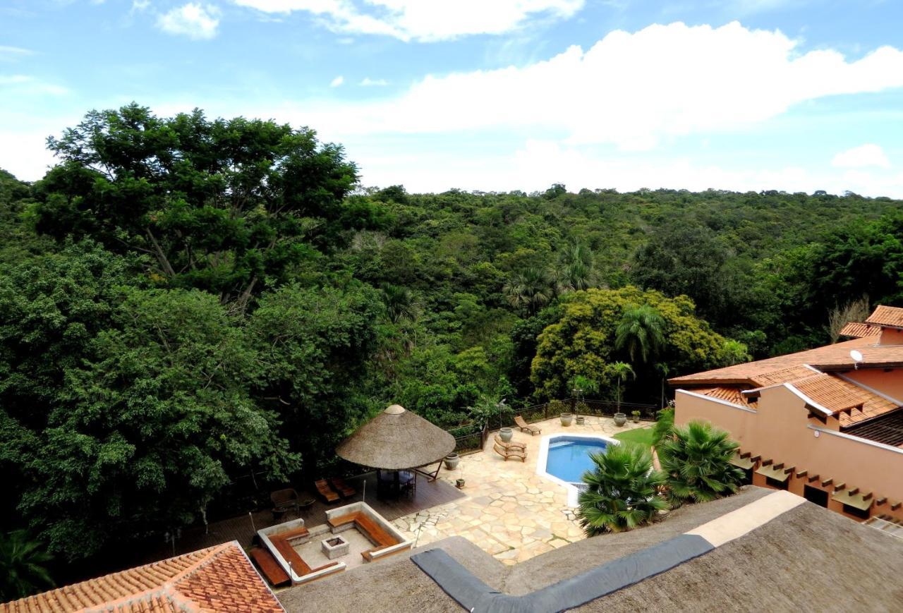
{"label": "dark shaded palm at left edge, above the orange tiled roof corner", "polygon": [[14,600],[53,587],[44,564],[53,559],[28,532],[0,534],[0,601]]}

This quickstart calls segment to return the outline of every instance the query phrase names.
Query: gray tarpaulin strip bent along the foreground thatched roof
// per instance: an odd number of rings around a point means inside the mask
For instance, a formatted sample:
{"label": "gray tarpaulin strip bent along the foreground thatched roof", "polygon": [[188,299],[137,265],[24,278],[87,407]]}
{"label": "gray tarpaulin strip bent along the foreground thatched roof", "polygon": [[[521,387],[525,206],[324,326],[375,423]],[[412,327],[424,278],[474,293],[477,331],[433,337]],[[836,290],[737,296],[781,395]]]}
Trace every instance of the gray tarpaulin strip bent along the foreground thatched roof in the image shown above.
{"label": "gray tarpaulin strip bent along the foreground thatched roof", "polygon": [[712,549],[712,543],[698,534],[681,534],[526,596],[507,596],[493,590],[441,549],[417,553],[411,556],[411,561],[461,607],[473,613],[552,613],[579,607],[668,571]]}

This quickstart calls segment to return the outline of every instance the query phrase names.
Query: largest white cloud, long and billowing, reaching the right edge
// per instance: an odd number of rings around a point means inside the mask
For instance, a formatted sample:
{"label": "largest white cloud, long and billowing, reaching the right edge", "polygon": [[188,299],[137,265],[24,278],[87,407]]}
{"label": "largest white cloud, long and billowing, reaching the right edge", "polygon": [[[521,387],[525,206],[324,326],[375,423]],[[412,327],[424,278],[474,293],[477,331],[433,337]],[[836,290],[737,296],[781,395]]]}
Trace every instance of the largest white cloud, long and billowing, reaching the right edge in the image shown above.
{"label": "largest white cloud, long and billowing, reaching the right edge", "polygon": [[339,135],[517,130],[571,144],[651,149],[663,138],[745,129],[808,100],[903,87],[903,52],[801,53],[780,32],[684,23],[612,32],[524,67],[427,76],[385,101],[304,105]]}

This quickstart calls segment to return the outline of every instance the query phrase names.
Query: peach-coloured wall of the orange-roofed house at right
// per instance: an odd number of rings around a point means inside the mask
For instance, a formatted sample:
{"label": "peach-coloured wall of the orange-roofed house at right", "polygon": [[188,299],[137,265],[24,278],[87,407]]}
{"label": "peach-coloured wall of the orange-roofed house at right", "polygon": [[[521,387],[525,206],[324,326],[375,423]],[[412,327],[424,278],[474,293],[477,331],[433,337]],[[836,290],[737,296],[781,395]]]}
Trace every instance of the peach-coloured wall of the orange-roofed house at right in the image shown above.
{"label": "peach-coloured wall of the orange-roofed house at right", "polygon": [[[731,432],[744,452],[750,451],[762,460],[783,462],[797,470],[805,469],[810,476],[820,475],[819,486],[822,480],[832,478],[835,484],[845,483],[847,488],[873,492],[876,498],[887,497],[893,502],[903,499],[903,450],[878,447],[830,432],[819,432],[816,437],[815,430],[808,427],[810,424],[825,430],[830,426],[810,420],[807,415],[803,400],[783,385],[762,390],[755,413],[686,394],[683,390],[675,395],[675,423],[707,420]],[[764,485],[764,478],[756,477],[760,482],[754,478],[753,483]],[[794,473],[791,479],[788,489],[802,494],[808,478],[796,479]],[[833,491],[833,485],[826,489]],[[903,506],[892,513],[886,503],[873,506],[872,513],[903,518]]]}

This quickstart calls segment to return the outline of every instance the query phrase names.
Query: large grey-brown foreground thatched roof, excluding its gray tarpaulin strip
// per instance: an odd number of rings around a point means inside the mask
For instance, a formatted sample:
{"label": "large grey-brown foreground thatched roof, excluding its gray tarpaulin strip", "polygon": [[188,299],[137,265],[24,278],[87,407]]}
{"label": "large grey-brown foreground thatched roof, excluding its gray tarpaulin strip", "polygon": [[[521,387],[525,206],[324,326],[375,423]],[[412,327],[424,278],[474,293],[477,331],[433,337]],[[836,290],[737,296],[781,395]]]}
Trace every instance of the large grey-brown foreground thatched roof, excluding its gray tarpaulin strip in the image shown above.
{"label": "large grey-brown foreground thatched roof, excluding its gray tarpaulin strip", "polygon": [[[661,523],[585,539],[515,566],[455,536],[283,590],[278,598],[289,613],[339,613],[360,602],[396,613],[463,610],[408,559],[411,553],[442,548],[489,586],[521,595],[661,543],[772,491],[743,488],[737,496],[679,508]],[[576,610],[897,610],[901,572],[903,541],[806,502],[711,553]]]}

